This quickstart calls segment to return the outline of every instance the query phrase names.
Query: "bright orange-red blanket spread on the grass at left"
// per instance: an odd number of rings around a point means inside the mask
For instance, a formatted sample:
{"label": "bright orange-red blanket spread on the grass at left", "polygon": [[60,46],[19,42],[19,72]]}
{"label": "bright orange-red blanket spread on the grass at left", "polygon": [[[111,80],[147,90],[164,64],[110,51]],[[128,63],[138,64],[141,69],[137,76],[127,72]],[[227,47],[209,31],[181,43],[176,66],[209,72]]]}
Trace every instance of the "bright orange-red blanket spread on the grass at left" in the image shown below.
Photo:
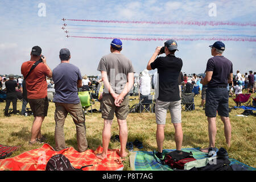
{"label": "bright orange-red blanket spread on the grass at left", "polygon": [[43,144],[41,148],[26,151],[23,154],[13,158],[0,160],[0,170],[11,171],[44,171],[48,160],[57,154],[65,155],[72,166],[81,168],[92,164],[93,166],[83,168],[84,171],[115,171],[122,170],[123,164],[118,161],[121,157],[117,150],[109,149],[108,158],[101,160],[96,154],[101,153],[103,148],[99,146],[96,151],[86,150],[78,152],[73,147],[65,148],[61,151],[55,151],[49,144]]}

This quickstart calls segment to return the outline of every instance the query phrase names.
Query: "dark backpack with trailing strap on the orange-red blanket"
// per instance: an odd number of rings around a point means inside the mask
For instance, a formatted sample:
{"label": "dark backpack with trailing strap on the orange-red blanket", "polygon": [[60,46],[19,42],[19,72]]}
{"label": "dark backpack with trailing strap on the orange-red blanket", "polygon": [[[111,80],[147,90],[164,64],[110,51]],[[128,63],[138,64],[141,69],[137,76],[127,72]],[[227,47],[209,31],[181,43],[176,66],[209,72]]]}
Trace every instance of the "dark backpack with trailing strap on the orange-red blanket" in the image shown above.
{"label": "dark backpack with trailing strap on the orange-red blanket", "polygon": [[68,158],[65,157],[65,155],[57,154],[53,155],[47,162],[46,171],[82,171],[82,168],[88,166],[83,166],[80,169],[76,169],[72,166],[72,164],[70,163]]}

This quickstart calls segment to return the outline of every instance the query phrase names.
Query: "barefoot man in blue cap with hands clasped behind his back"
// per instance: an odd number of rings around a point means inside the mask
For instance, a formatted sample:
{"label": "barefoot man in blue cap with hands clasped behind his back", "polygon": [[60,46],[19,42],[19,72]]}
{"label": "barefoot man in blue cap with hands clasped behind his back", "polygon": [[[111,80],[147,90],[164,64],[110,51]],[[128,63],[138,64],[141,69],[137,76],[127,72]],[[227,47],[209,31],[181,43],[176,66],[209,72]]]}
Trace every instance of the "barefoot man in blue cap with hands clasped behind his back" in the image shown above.
{"label": "barefoot man in blue cap with hands clasped behind his back", "polygon": [[121,144],[119,155],[121,157],[128,155],[126,152],[128,134],[126,117],[129,113],[128,93],[134,83],[134,68],[131,61],[120,53],[121,51],[121,40],[113,39],[110,44],[111,53],[101,58],[97,69],[101,72],[102,79],[104,79],[101,105],[102,118],[104,119],[104,129],[102,131],[103,152],[97,155],[100,159],[107,158],[114,113],[119,125]]}

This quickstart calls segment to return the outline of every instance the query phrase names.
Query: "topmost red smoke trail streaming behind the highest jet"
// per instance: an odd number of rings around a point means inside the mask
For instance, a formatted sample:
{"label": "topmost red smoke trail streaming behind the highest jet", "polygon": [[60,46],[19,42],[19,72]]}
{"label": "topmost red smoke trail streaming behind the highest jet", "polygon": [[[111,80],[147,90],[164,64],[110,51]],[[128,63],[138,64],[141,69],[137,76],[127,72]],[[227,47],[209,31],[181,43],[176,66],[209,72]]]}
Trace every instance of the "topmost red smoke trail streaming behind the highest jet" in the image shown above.
{"label": "topmost red smoke trail streaming behind the highest jet", "polygon": [[213,21],[172,21],[172,22],[148,22],[148,21],[121,21],[121,20],[91,20],[91,19],[66,19],[78,22],[97,22],[97,23],[135,23],[135,24],[181,24],[194,26],[251,26],[255,27],[255,22],[213,22]]}

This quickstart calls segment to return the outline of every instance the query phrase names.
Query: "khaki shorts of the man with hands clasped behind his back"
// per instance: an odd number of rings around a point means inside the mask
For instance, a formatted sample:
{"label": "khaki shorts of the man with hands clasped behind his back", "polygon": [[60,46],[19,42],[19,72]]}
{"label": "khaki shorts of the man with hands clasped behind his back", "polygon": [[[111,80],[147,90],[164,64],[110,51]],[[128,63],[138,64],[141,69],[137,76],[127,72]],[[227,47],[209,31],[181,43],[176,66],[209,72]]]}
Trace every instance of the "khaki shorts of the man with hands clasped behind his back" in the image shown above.
{"label": "khaki shorts of the man with hands clasped behind his back", "polygon": [[125,120],[129,114],[129,96],[123,98],[123,102],[120,107],[115,106],[114,98],[109,93],[103,93],[101,114],[102,118],[112,120],[114,119],[114,113],[117,119]]}

